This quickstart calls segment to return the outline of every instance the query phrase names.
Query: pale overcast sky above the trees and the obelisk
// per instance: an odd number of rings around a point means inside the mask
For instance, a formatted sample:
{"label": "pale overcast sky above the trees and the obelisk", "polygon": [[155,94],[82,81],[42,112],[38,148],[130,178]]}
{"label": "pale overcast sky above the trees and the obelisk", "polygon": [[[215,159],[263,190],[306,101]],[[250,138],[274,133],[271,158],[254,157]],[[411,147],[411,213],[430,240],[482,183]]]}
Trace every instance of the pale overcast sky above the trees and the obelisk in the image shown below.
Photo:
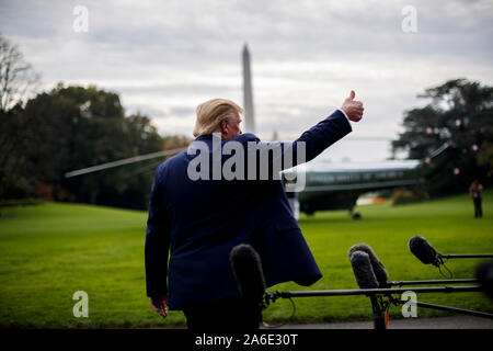
{"label": "pale overcast sky above the trees and the obelisk", "polygon": [[[88,32],[73,30],[76,5],[88,9]],[[416,10],[415,33],[402,30],[405,5]],[[0,0],[0,33],[44,89],[117,92],[127,114],[147,114],[162,134],[192,137],[195,107],[208,99],[243,104],[245,42],[263,139],[296,138],[354,89],[364,120],[329,149],[334,161],[389,157],[403,112],[427,102],[416,99],[426,88],[462,77],[491,86],[492,23],[492,0]]]}

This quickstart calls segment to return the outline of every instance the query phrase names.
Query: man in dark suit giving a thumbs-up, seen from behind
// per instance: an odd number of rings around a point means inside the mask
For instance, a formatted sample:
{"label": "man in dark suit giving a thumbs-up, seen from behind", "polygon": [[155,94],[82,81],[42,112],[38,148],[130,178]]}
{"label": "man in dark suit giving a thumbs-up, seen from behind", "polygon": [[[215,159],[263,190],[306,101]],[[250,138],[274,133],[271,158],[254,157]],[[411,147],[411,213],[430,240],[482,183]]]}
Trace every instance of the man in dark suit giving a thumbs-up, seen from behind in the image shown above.
{"label": "man in dark suit giving a thumbs-up, seen from behind", "polygon": [[[181,309],[192,329],[257,329],[260,308],[242,299],[229,262],[239,244],[259,252],[267,287],[287,281],[308,286],[322,276],[276,172],[260,180],[259,169],[309,161],[344,137],[349,121],[363,116],[354,98],[352,91],[340,110],[294,143],[268,143],[280,147],[280,157],[270,154],[266,162],[260,155],[267,144],[241,133],[241,107],[222,99],[197,107],[195,141],[158,167],[151,189],[145,260],[147,295],[157,313]],[[253,154],[251,146],[257,147]],[[234,178],[217,174],[241,149],[246,157],[229,169]],[[294,161],[274,165],[287,150]],[[254,166],[246,161],[252,155]]]}

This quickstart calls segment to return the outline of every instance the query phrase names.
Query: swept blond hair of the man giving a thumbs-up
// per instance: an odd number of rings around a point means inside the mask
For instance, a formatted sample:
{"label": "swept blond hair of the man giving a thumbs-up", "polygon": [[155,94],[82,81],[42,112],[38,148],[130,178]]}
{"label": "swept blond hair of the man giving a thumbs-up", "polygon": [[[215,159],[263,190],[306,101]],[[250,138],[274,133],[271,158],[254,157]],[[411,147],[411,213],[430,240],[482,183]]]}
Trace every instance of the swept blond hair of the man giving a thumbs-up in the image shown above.
{"label": "swept blond hair of the man giving a thumbs-up", "polygon": [[211,134],[222,120],[236,117],[240,113],[243,113],[243,109],[231,100],[213,99],[206,101],[197,106],[194,136]]}

